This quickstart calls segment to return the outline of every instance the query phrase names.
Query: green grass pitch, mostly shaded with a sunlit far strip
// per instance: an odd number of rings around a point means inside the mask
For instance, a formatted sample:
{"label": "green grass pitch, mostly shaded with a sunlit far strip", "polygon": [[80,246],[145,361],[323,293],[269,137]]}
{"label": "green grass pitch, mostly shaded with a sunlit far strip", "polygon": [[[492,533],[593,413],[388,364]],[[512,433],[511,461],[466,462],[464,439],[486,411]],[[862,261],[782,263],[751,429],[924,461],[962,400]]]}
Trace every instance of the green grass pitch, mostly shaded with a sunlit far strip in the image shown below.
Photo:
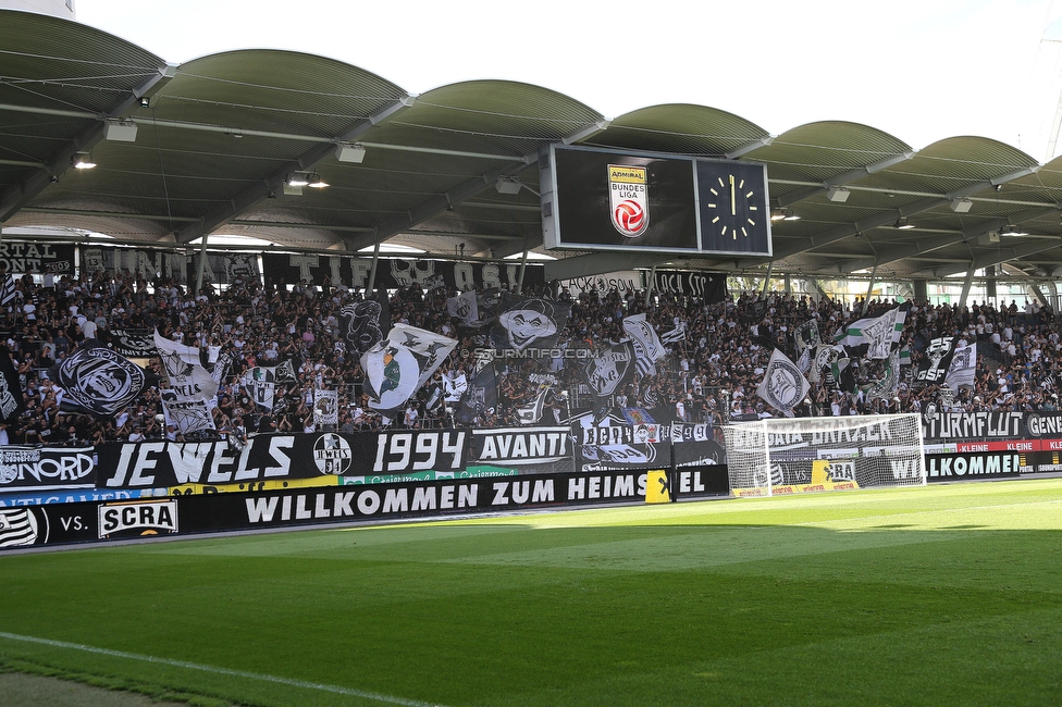
{"label": "green grass pitch, mostly shaded with a sunlit far strip", "polygon": [[0,667],[196,704],[1062,703],[1062,480],[0,555]]}

